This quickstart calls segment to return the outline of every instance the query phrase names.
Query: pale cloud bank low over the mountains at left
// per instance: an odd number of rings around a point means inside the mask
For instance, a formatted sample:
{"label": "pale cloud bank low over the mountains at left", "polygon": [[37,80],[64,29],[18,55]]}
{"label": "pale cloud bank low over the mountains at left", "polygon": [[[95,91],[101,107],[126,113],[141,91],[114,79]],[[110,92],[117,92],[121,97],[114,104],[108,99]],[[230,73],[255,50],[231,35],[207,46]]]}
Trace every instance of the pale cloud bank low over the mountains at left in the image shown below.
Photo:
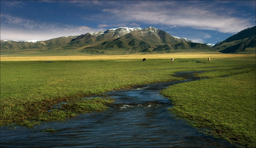
{"label": "pale cloud bank low over the mountains at left", "polygon": [[1,40],[48,40],[54,37],[80,35],[100,31],[88,26],[74,26],[59,23],[39,22],[1,14]]}

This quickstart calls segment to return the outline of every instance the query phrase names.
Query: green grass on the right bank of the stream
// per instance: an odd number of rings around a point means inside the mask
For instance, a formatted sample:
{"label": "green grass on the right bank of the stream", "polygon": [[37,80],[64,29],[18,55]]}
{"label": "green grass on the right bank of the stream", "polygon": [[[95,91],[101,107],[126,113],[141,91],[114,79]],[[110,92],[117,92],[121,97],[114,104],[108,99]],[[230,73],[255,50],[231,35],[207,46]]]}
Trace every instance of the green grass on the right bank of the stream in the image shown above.
{"label": "green grass on the right bank of the stream", "polygon": [[207,134],[225,138],[238,147],[255,147],[255,66],[230,67],[196,76],[210,79],[180,83],[161,91],[172,100],[170,111],[192,126],[210,128]]}

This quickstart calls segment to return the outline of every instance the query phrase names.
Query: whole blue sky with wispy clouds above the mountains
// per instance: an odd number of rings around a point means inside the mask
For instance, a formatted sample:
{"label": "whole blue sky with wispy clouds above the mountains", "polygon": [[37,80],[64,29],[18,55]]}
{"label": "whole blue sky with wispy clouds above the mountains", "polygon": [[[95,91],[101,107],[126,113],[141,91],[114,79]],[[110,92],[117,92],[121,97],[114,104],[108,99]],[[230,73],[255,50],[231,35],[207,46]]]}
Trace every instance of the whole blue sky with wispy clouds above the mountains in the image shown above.
{"label": "whole blue sky with wispy clouds above the mountains", "polygon": [[44,41],[153,26],[194,42],[215,44],[256,24],[255,0],[0,2],[1,40]]}

